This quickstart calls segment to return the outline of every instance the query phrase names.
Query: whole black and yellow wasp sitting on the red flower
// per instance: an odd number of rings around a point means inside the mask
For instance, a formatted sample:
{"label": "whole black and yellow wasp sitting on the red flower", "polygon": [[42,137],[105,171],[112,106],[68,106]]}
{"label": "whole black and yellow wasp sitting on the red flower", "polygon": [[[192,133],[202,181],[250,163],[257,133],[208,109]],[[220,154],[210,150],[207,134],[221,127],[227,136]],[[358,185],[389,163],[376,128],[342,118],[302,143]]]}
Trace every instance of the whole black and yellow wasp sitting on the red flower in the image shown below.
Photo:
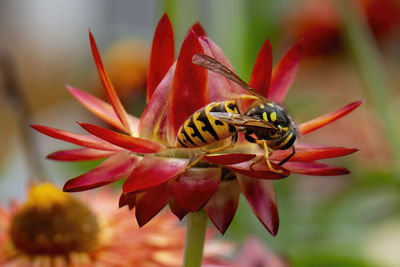
{"label": "whole black and yellow wasp sitting on the red flower", "polygon": [[[232,137],[232,142],[229,145],[207,150],[180,174],[194,166],[206,155],[233,147],[239,132],[244,132],[247,141],[256,143],[264,149],[264,156],[260,160],[265,160],[270,171],[281,173],[281,170],[275,170],[272,167],[268,157],[269,153],[274,150],[285,150],[292,147],[292,153],[278,164],[282,165],[296,153],[293,144],[297,131],[292,117],[286,113],[284,108],[260,95],[233,71],[214,58],[196,54],[193,56],[192,62],[225,76],[250,94],[241,95],[239,98],[255,99],[256,101],[244,114],[240,112],[236,100],[227,100],[210,103],[190,116],[178,131],[175,147],[199,148],[228,137]],[[260,160],[253,162],[251,167]]]}

